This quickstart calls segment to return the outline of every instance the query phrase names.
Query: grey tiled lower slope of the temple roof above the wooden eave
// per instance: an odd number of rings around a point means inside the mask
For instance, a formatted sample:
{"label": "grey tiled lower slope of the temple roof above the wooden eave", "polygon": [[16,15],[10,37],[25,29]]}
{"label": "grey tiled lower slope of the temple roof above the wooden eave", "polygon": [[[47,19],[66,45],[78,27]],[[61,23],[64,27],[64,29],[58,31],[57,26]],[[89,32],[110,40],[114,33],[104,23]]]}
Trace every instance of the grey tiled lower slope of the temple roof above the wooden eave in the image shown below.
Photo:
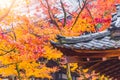
{"label": "grey tiled lower slope of the temple roof above the wooden eave", "polygon": [[81,36],[79,39],[76,39],[75,37],[61,38],[58,43],[52,43],[57,47],[64,47],[68,49],[101,50],[120,48],[120,40],[115,41],[111,39],[110,36],[104,36],[103,38],[100,38],[103,35],[98,38],[94,38],[92,35],[89,36]]}

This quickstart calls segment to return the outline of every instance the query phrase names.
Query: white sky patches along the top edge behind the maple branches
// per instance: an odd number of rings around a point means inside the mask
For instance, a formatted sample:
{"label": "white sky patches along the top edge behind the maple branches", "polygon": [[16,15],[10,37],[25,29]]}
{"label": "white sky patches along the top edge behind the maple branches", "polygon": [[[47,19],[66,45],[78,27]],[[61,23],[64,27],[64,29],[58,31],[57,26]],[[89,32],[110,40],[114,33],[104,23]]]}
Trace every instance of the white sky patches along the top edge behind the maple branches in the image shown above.
{"label": "white sky patches along the top edge behind the maple branches", "polygon": [[[31,2],[32,4],[29,6],[30,9],[30,14],[27,13],[28,8],[26,7],[26,0],[16,0],[17,4],[14,8],[14,10],[16,10],[16,12],[19,12],[17,14],[26,14],[26,15],[30,15],[33,16],[35,13],[38,15],[38,17],[40,16],[39,14],[41,14],[42,10],[40,10],[40,12],[36,12],[35,8],[36,6],[40,6],[39,4],[39,0],[28,0],[29,2]],[[70,11],[73,11],[75,9],[77,9],[78,7],[78,0],[63,0],[64,2],[66,2],[68,5],[70,5]],[[11,4],[12,0],[0,0],[0,9],[1,8],[6,8],[9,7]],[[62,15],[59,15],[62,16]],[[44,17],[44,16],[43,16]]]}

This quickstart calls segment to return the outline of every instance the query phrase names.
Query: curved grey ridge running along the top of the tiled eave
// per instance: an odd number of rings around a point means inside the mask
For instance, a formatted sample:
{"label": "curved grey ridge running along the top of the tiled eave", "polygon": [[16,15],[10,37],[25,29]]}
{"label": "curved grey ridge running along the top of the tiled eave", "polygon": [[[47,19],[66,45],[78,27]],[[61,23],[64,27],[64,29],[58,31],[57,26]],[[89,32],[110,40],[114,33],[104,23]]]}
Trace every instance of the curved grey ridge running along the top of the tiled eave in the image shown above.
{"label": "curved grey ridge running along the top of the tiled eave", "polygon": [[72,43],[79,43],[79,42],[85,42],[85,41],[91,41],[93,39],[99,39],[99,38],[103,38],[105,36],[109,36],[111,33],[109,30],[104,30],[101,32],[97,32],[97,33],[91,33],[91,34],[87,34],[87,35],[81,35],[81,36],[77,36],[77,37],[64,37],[61,35],[57,36],[57,40],[64,44],[72,44]]}

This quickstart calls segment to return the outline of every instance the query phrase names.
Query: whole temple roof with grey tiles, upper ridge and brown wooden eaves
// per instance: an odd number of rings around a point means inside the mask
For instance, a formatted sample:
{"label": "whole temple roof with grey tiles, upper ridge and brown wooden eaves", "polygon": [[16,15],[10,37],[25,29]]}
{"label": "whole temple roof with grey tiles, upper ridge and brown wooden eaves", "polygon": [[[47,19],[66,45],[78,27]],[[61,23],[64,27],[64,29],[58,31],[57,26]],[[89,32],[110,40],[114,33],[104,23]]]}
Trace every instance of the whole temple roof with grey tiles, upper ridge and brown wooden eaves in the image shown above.
{"label": "whole temple roof with grey tiles, upper ridge and brown wooden eaves", "polygon": [[116,9],[108,29],[74,37],[57,35],[57,42],[51,44],[67,56],[68,62],[120,80],[120,4]]}

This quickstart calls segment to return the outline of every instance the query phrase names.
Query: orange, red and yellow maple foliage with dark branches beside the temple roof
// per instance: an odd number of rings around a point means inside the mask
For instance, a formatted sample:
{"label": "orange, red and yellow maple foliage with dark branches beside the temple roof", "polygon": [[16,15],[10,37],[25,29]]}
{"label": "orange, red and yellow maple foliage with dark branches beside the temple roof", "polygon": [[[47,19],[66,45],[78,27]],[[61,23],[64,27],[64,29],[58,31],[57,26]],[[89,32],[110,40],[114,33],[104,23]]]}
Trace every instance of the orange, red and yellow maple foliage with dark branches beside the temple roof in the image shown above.
{"label": "orange, red and yellow maple foliage with dark branches beside the temple roof", "polygon": [[[16,7],[13,6],[15,0],[9,8],[3,9],[5,12],[1,12],[1,24],[10,25],[10,28],[0,30],[0,74],[15,75],[20,80],[31,76],[51,78],[51,73],[58,68],[49,68],[38,59],[45,57],[47,60],[56,60],[62,53],[53,49],[49,41],[55,40],[57,34],[76,36],[106,29],[110,25],[111,13],[115,11],[114,5],[120,3],[119,0],[81,1],[78,2],[78,9],[70,12],[69,5],[63,0],[39,0],[41,6],[37,6],[36,11],[42,9],[46,17],[37,22],[31,21],[26,15],[20,16],[10,11]],[[30,1],[25,2],[29,8]],[[57,3],[60,8],[56,7]],[[56,15],[61,13],[63,17],[59,19]],[[76,64],[73,66],[72,70],[78,67]]]}

